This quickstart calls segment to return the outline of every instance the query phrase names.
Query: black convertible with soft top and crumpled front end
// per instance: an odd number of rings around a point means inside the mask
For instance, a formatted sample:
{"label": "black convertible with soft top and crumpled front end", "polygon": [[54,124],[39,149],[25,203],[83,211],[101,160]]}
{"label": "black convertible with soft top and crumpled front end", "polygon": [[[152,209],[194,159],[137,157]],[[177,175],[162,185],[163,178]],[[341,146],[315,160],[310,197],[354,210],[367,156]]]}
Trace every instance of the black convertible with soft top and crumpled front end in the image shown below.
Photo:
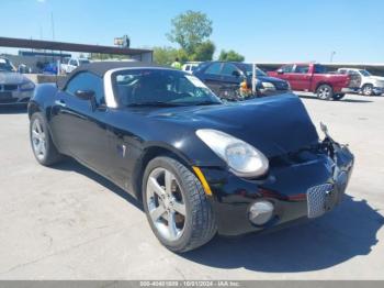
{"label": "black convertible with soft top and crumpled front end", "polygon": [[223,103],[194,76],[142,63],[93,63],[41,85],[29,115],[38,163],[74,157],[143,200],[174,252],[317,218],[353,166],[292,93]]}

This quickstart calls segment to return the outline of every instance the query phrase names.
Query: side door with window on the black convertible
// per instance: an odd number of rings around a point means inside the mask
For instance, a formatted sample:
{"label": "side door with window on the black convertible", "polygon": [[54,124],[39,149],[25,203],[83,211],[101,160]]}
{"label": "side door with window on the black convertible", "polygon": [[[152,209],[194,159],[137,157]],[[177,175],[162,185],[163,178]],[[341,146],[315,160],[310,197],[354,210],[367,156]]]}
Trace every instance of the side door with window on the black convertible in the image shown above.
{"label": "side door with window on the black convertible", "polygon": [[[80,99],[78,90],[94,91],[94,101]],[[106,111],[102,78],[80,73],[56,95],[50,120],[59,149],[101,173],[108,173],[111,158]]]}

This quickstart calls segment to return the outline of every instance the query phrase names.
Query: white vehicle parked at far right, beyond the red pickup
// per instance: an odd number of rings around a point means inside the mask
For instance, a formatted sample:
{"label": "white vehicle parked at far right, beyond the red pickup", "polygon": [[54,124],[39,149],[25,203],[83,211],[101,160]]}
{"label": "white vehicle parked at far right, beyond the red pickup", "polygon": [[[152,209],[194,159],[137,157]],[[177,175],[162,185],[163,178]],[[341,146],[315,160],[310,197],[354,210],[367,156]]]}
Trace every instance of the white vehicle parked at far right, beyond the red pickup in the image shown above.
{"label": "white vehicle parked at far right, beyond the red pickup", "polygon": [[360,79],[359,86],[354,89],[357,92],[362,92],[364,96],[384,93],[384,77],[373,76],[368,70],[354,68],[339,68],[338,73]]}

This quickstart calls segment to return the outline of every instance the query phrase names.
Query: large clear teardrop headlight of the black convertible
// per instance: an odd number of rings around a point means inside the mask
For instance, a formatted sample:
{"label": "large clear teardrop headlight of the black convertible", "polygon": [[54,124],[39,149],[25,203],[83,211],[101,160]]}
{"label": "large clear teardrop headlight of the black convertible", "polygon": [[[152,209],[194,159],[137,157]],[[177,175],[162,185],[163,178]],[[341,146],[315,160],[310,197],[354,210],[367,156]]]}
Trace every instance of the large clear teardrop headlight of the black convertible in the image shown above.
{"label": "large clear teardrop headlight of the black convertible", "polygon": [[227,163],[235,175],[251,178],[267,173],[267,157],[248,143],[212,129],[197,130],[196,135]]}

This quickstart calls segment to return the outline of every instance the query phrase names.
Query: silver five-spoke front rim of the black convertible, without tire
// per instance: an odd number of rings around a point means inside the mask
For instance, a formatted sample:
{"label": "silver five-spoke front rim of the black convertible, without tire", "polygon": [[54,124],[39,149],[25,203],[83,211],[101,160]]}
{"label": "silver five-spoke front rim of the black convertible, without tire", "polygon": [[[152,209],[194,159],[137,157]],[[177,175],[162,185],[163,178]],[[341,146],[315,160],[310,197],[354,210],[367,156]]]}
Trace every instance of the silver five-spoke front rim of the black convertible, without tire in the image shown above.
{"label": "silver five-spoke front rim of the black convertible, without tire", "polygon": [[150,220],[161,236],[168,241],[180,239],[187,209],[176,176],[166,168],[155,168],[147,180],[146,197]]}

